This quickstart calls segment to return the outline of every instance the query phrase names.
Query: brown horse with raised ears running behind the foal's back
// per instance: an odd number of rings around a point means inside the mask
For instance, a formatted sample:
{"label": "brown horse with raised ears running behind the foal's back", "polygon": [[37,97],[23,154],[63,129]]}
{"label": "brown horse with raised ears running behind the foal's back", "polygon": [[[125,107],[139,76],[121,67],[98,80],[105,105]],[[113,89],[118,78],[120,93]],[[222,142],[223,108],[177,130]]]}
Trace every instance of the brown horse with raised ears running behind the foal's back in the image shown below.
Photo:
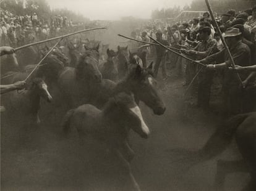
{"label": "brown horse with raised ears running behind the foal's back", "polygon": [[96,59],[90,51],[80,55],[76,68],[65,67],[59,75],[58,84],[69,108],[87,104],[95,97],[95,89],[100,86],[101,78]]}

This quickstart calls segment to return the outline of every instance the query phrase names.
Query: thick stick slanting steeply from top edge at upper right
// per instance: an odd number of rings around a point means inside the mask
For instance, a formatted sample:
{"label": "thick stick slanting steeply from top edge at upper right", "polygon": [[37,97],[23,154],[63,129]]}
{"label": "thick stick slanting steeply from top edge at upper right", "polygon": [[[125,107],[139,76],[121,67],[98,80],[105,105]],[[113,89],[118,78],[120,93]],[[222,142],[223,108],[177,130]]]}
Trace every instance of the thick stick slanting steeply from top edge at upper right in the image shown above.
{"label": "thick stick slanting steeply from top edge at upper right", "polygon": [[[216,22],[215,17],[213,15],[213,10],[211,9],[210,2],[208,0],[205,0],[205,3],[207,4],[208,10],[210,12],[211,19],[213,20],[213,25],[215,25],[215,29],[216,29],[218,35],[220,36],[221,41],[222,41],[226,51],[228,51],[228,55],[229,55],[229,59],[231,59],[232,67],[235,68],[234,59],[233,59],[233,57],[231,55],[231,52],[229,51],[229,48],[228,48],[228,45],[226,44],[226,41],[224,40],[223,36],[221,35],[221,30],[220,30],[220,27],[218,26],[218,23]],[[237,73],[237,78],[239,79],[240,83],[242,84],[242,79],[239,76],[239,73]]]}

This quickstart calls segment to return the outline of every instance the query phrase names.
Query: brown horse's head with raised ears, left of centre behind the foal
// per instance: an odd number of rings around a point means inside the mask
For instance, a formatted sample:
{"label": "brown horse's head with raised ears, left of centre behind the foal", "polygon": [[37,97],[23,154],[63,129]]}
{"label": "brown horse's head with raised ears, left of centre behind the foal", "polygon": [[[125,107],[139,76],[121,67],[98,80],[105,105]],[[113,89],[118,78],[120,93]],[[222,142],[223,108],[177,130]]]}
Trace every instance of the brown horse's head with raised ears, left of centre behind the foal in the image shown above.
{"label": "brown horse's head with raised ears, left of centre behind the foal", "polygon": [[88,52],[80,55],[76,71],[78,79],[89,79],[96,83],[101,82],[102,75],[98,69],[98,65],[92,55]]}

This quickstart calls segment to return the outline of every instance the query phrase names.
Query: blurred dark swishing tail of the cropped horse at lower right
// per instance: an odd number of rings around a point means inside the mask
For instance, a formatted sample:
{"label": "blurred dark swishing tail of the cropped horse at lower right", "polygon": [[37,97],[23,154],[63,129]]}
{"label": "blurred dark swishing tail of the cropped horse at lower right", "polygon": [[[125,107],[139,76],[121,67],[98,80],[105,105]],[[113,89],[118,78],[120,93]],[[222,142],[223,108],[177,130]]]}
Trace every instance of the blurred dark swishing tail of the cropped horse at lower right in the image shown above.
{"label": "blurred dark swishing tail of the cropped horse at lower right", "polygon": [[200,150],[202,160],[210,160],[223,152],[231,143],[239,125],[250,115],[250,113],[240,114],[229,118],[218,127],[207,143]]}

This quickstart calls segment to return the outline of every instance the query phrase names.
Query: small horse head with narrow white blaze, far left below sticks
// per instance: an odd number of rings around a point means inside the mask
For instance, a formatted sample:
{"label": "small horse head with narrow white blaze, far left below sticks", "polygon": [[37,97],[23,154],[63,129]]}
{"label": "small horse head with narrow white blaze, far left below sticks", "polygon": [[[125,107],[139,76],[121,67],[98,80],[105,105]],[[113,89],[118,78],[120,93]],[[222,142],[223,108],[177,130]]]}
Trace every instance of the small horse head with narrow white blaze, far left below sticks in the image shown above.
{"label": "small horse head with narrow white blaze, far left below sticks", "polygon": [[48,86],[42,78],[33,79],[30,89],[35,91],[36,94],[48,102],[53,100],[53,97],[51,97],[51,94],[49,94]]}

